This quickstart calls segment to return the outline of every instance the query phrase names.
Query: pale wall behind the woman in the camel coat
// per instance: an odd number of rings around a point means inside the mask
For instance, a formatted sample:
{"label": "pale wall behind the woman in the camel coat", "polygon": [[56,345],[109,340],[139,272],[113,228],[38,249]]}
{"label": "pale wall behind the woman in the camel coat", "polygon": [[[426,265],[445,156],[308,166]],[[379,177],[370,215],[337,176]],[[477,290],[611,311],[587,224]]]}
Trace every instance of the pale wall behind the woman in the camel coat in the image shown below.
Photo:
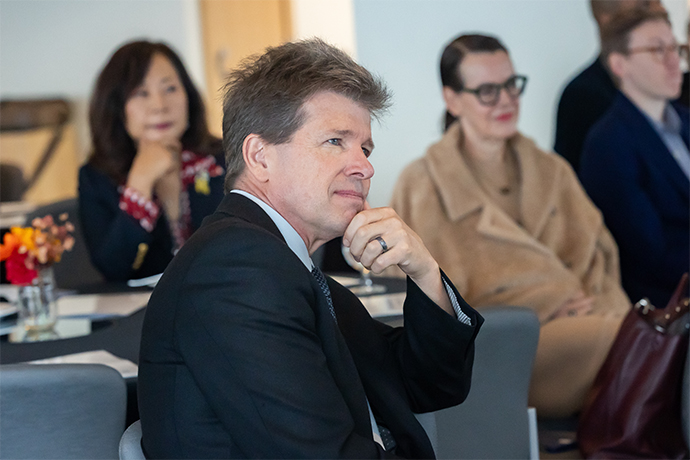
{"label": "pale wall behind the woman in the camel coat", "polygon": [[[686,0],[663,3],[685,42]],[[519,128],[548,150],[563,87],[598,51],[588,0],[354,0],[354,11],[359,62],[394,93],[390,114],[373,129],[373,206],[388,203],[402,168],[441,135],[438,62],[450,40],[479,32],[503,41],[516,71],[529,76]]]}

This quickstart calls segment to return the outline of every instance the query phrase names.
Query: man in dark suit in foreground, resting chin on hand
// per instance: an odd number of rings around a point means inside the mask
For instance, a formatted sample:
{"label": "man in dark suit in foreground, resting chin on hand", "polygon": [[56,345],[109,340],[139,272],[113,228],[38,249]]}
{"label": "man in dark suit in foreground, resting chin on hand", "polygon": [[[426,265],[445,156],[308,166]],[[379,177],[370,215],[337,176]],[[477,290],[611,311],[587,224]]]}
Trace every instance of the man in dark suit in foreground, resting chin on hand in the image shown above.
{"label": "man in dark suit in foreground, resting chin on hand", "polygon": [[[226,88],[226,196],[144,321],[146,455],[432,458],[413,413],[464,400],[482,318],[392,209],[367,205],[387,91],[319,40],[269,48]],[[313,267],[338,236],[407,274],[404,328]]]}

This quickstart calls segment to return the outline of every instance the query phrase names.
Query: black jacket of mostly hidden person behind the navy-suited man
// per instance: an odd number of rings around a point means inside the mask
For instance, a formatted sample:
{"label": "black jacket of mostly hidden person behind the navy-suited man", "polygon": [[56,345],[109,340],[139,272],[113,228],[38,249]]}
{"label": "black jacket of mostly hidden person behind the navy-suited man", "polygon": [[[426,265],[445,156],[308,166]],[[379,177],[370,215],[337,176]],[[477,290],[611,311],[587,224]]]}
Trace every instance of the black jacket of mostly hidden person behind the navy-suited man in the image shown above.
{"label": "black jacket of mostly hidden person behind the navy-suited man", "polygon": [[554,150],[573,166],[580,165],[582,147],[594,123],[611,107],[616,85],[599,58],[563,90],[556,116]]}

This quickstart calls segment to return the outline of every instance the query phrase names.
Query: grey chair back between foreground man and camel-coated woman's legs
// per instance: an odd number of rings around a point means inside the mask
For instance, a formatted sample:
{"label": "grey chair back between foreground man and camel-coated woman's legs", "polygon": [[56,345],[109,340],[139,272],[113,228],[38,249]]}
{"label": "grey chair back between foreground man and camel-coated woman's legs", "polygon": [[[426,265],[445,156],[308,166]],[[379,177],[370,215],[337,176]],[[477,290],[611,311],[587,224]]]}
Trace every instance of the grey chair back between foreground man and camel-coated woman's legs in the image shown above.
{"label": "grey chair back between foreground man and camel-coated woman's legs", "polygon": [[531,458],[536,452],[530,436],[536,434],[530,432],[527,397],[539,320],[520,307],[480,313],[485,322],[475,342],[470,394],[464,403],[435,412],[436,456]]}

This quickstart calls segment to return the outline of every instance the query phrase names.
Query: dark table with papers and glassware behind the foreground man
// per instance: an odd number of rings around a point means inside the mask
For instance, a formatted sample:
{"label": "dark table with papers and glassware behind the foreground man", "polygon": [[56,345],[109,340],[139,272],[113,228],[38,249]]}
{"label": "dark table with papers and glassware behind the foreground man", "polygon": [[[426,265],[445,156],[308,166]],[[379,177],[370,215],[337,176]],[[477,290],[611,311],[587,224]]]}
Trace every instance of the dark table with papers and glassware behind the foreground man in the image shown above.
{"label": "dark table with papers and glassware behind the foreground man", "polygon": [[[351,275],[331,276],[344,286],[354,286],[359,281]],[[372,317],[393,326],[401,325],[405,280],[375,277],[374,281],[386,286],[386,292],[360,295],[360,300]],[[0,285],[0,297],[11,303],[13,289],[16,287]],[[136,401],[139,342],[152,291],[150,286],[131,287],[124,282],[58,291],[58,320],[54,331],[29,336],[21,322],[17,322],[9,333],[0,337],[0,364],[96,362],[112,366],[127,382],[127,422],[134,422],[139,418]]]}

